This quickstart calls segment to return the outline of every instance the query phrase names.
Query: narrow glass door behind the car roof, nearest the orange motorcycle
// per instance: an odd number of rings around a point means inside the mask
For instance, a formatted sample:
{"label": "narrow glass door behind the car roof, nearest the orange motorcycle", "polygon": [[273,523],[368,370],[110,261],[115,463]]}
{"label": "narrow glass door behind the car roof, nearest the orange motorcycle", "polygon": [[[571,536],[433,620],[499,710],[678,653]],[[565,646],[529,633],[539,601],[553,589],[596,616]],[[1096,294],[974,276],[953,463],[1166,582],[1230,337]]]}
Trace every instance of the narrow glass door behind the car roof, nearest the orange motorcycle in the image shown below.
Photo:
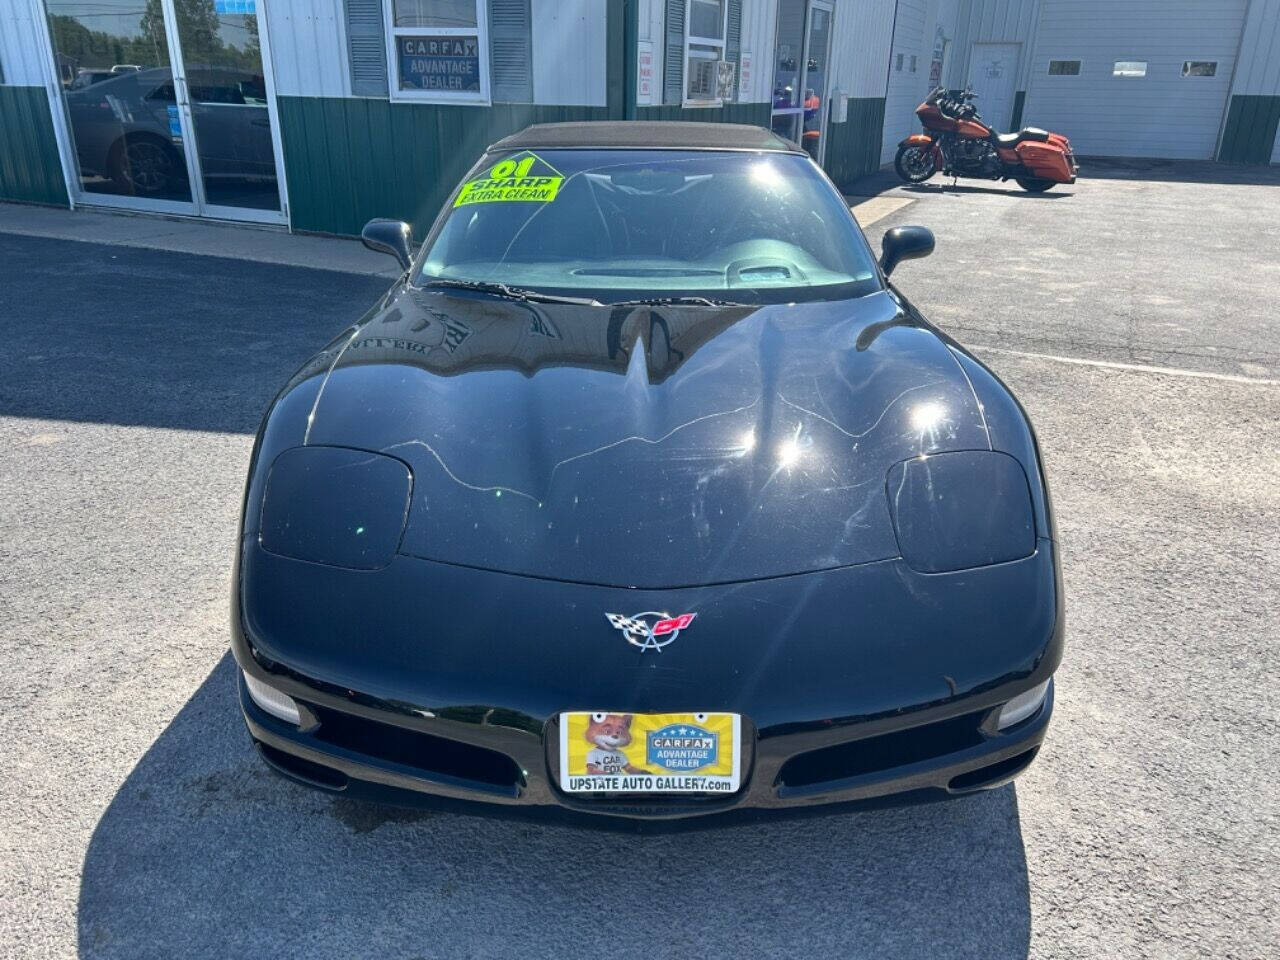
{"label": "narrow glass door behind the car roof, nearest the orange motorcycle", "polygon": [[831,76],[828,0],[778,0],[773,56],[773,132],[822,161],[827,84]]}

